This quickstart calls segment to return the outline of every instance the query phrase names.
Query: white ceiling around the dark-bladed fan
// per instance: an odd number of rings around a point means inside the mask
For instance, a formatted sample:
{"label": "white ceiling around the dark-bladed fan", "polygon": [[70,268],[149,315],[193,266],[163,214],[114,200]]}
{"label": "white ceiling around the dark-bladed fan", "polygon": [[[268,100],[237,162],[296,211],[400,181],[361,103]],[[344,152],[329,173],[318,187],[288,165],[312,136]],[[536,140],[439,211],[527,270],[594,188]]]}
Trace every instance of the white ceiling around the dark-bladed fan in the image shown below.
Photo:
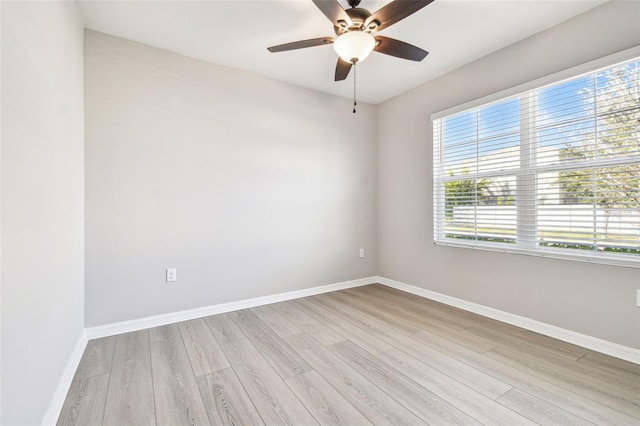
{"label": "white ceiling around the dark-bladed fan", "polygon": [[[346,0],[339,0],[347,7]],[[402,1],[402,0],[397,0]],[[387,0],[362,0],[374,12]],[[380,103],[552,27],[606,0],[435,0],[380,34],[429,51],[422,62],[373,52],[358,65],[358,99]],[[333,36],[311,0],[79,1],[87,28],[299,86],[351,97],[353,71],[333,81],[332,46],[267,47]]]}

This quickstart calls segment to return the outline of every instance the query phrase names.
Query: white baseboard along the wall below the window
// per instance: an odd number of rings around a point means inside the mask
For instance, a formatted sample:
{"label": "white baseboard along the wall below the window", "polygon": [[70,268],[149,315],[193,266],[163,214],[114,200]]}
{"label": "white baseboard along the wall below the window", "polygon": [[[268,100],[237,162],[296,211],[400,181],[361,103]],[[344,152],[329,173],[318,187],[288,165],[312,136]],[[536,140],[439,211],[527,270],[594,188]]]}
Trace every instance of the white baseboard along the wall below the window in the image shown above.
{"label": "white baseboard along the wall below the window", "polygon": [[506,322],[507,324],[512,324],[518,327],[522,327],[527,330],[535,331],[536,333],[544,334],[545,336],[563,340],[568,343],[573,343],[574,345],[582,346],[584,348],[601,352],[603,354],[611,355],[613,357],[620,358],[625,361],[640,364],[639,349],[634,349],[628,346],[612,343],[607,340],[598,339],[592,336],[587,336],[586,334],[577,333],[575,331],[556,327],[555,325],[546,324],[540,321],[532,320],[530,318],[511,314],[509,312],[504,312],[498,309],[489,308],[487,306],[479,305],[477,303],[467,302],[466,300],[447,296],[441,293],[436,293],[430,290],[425,290],[420,287],[405,284],[399,281],[390,280],[388,278],[384,278],[384,277],[374,277],[374,278],[375,278],[375,281],[377,281],[378,283],[386,285],[388,287],[406,291],[407,293],[415,294],[416,296],[421,296],[427,299],[435,300],[436,302],[441,302],[446,305],[464,309],[465,311],[469,311],[485,317],[493,318],[495,320]]}

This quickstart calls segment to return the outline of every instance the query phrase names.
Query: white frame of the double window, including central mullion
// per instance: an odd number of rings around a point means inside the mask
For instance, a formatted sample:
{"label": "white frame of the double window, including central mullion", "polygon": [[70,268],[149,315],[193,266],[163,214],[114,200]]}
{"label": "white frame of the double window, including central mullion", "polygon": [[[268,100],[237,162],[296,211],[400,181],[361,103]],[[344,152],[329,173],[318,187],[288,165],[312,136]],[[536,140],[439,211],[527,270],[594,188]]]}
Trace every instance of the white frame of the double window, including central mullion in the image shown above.
{"label": "white frame of the double window, including central mullion", "polygon": [[[526,99],[527,105],[531,105],[535,102],[534,91],[539,91],[547,86],[560,84],[564,81],[571,80],[582,75],[593,74],[600,70],[611,68],[618,63],[638,59],[640,57],[640,46],[614,53],[612,55],[605,56],[603,58],[596,59],[554,74],[547,75],[545,77],[502,90],[488,96],[466,102],[461,105],[448,108],[443,111],[436,112],[431,115],[432,121],[432,143],[433,143],[433,164],[432,164],[432,178],[433,178],[433,241],[436,245],[452,246],[461,248],[481,249],[488,251],[497,251],[503,253],[514,253],[522,255],[530,255],[537,257],[549,257],[554,259],[572,260],[580,262],[590,262],[605,265],[616,265],[630,268],[640,268],[640,256],[633,257],[629,255],[620,255],[611,252],[598,252],[598,251],[584,251],[567,248],[553,248],[544,247],[540,248],[534,238],[523,238],[525,235],[531,235],[531,233],[538,232],[536,209],[519,208],[516,203],[516,242],[515,244],[495,243],[490,241],[480,240],[457,240],[455,238],[447,238],[445,236],[445,185],[447,181],[445,171],[442,170],[444,164],[442,164],[442,152],[443,143],[442,140],[437,141],[437,137],[442,136],[440,125],[440,119],[453,116],[457,113],[465,112],[478,107],[487,107],[491,104],[503,102],[511,98],[521,97]],[[520,100],[523,102],[523,99]],[[523,159],[531,160],[535,158],[534,149],[535,146],[531,144],[532,132],[535,130],[531,127],[534,123],[531,115],[535,108],[520,108],[520,161]],[[529,115],[527,117],[526,115]],[[630,158],[636,158],[630,157]],[[602,165],[606,165],[608,160],[598,160]],[[521,182],[527,179],[533,181],[536,175],[541,172],[549,172],[559,170],[565,170],[567,167],[575,167],[571,165],[541,165],[529,167],[531,164],[521,164],[517,170],[504,170],[504,171],[492,171],[492,172],[477,172],[465,175],[465,179],[479,179],[482,177],[494,177],[494,176],[512,176],[516,178],[516,199],[523,200],[535,200],[537,191],[537,184],[522,185]],[[591,166],[591,165],[590,165]],[[459,179],[459,176],[458,176]],[[450,180],[454,180],[453,178]],[[531,192],[533,191],[533,193]],[[525,193],[526,192],[526,193]],[[526,211],[525,211],[526,210]],[[477,224],[477,222],[476,222]]]}

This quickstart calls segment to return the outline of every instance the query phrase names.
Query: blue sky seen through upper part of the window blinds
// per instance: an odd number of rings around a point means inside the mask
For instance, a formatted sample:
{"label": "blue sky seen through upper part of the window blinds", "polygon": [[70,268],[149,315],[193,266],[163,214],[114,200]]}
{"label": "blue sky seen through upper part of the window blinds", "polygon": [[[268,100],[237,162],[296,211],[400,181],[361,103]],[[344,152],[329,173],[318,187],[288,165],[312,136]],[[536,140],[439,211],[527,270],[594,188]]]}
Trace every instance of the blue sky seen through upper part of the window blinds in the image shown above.
{"label": "blue sky seen through upper part of the window blinds", "polygon": [[[640,61],[624,66],[627,75],[638,76]],[[537,146],[558,149],[589,143],[606,124],[598,119],[598,93],[611,81],[606,71],[554,84],[536,91],[532,113]],[[447,169],[461,164],[457,174],[474,173],[477,157],[497,153],[520,144],[521,105],[526,96],[516,96],[447,117],[442,122],[443,161]],[[542,159],[544,161],[544,159]]]}

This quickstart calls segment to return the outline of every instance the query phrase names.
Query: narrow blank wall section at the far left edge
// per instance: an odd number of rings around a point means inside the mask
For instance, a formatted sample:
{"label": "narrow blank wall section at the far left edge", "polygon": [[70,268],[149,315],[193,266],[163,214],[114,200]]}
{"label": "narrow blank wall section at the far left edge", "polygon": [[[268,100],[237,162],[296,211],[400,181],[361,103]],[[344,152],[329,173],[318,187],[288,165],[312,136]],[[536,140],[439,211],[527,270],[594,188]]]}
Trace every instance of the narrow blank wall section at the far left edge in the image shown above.
{"label": "narrow blank wall section at the far left edge", "polygon": [[2,2],[2,416],[40,424],[84,326],[83,25]]}

